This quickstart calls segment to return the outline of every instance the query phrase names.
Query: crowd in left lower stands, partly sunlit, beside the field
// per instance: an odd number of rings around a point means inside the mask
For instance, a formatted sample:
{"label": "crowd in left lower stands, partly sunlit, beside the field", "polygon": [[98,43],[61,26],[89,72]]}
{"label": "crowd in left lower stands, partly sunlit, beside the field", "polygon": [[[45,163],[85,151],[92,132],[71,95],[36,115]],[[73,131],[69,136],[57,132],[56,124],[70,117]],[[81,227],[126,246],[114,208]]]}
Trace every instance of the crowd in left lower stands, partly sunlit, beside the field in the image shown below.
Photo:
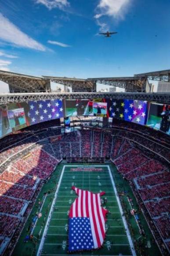
{"label": "crowd in left lower stands, partly sunlit, beside the field", "polygon": [[[50,135],[54,136],[55,133],[46,132],[39,139],[46,139]],[[32,202],[40,180],[46,180],[60,160],[51,155],[43,143],[37,143],[30,149],[16,154],[18,158],[9,162],[10,165],[0,173],[0,236],[4,244],[10,241],[18,225],[23,226],[21,218]]]}

